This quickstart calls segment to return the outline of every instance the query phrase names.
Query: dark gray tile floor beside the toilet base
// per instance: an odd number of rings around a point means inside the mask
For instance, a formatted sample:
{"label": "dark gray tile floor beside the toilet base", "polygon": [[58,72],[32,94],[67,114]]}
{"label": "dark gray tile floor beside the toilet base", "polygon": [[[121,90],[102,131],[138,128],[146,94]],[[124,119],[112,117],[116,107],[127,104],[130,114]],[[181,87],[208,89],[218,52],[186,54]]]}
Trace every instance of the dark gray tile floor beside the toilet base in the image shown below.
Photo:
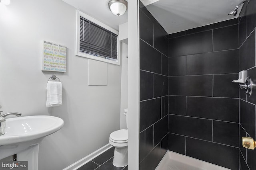
{"label": "dark gray tile floor beside the toilet base", "polygon": [[112,164],[114,147],[106,150],[90,162],[84,164],[77,170],[128,170],[128,167],[118,168]]}

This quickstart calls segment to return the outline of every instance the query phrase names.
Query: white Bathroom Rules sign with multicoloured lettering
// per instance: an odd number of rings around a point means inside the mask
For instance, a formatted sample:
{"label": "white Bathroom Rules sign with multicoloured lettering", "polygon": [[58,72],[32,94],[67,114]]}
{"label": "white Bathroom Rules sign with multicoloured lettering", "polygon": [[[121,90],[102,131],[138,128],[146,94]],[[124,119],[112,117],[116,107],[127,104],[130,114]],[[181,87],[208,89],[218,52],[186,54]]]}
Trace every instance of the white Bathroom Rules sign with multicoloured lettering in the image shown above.
{"label": "white Bathroom Rules sign with multicoloured lettering", "polygon": [[66,72],[66,47],[42,41],[42,71]]}

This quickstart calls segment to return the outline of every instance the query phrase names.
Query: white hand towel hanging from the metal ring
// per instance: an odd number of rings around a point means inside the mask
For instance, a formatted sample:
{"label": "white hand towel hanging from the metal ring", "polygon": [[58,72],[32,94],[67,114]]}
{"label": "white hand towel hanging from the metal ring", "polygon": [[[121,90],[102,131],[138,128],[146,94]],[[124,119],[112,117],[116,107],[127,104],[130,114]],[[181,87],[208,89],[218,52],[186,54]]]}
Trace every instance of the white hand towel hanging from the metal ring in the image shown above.
{"label": "white hand towel hanging from the metal ring", "polygon": [[46,89],[47,89],[46,107],[54,107],[54,106],[62,105],[62,83],[48,81]]}

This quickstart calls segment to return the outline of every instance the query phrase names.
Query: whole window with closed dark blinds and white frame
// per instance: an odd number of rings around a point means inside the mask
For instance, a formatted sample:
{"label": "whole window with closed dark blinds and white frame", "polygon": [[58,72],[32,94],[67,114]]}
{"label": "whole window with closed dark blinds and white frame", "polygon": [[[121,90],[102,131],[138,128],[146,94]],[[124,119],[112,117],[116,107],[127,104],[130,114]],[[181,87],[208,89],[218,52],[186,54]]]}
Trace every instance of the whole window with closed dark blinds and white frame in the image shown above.
{"label": "whole window with closed dark blinds and white frame", "polygon": [[120,65],[118,31],[77,10],[76,55]]}

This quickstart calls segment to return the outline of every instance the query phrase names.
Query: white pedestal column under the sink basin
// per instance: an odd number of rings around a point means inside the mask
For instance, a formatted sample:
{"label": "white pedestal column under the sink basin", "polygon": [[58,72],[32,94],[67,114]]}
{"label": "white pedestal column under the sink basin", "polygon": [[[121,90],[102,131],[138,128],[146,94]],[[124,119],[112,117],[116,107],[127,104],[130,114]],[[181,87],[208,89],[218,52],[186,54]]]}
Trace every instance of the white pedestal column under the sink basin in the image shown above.
{"label": "white pedestal column under the sink basin", "polygon": [[17,153],[18,161],[28,161],[28,170],[38,170],[39,144],[32,145],[28,149]]}

